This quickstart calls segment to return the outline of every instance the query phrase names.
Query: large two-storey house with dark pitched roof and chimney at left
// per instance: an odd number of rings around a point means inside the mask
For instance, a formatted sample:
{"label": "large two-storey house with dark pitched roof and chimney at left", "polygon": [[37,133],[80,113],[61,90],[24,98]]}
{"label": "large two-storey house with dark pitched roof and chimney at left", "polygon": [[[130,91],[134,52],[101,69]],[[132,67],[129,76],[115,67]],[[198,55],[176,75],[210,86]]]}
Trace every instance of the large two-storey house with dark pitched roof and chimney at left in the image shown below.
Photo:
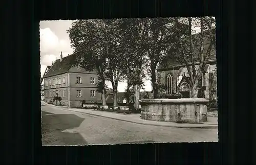
{"label": "large two-storey house with dark pitched roof and chimney at left", "polygon": [[50,103],[52,97],[60,96],[61,104],[79,107],[82,102],[101,103],[101,93],[97,92],[98,75],[79,66],[71,67],[75,55],[57,59],[44,77],[45,101]]}

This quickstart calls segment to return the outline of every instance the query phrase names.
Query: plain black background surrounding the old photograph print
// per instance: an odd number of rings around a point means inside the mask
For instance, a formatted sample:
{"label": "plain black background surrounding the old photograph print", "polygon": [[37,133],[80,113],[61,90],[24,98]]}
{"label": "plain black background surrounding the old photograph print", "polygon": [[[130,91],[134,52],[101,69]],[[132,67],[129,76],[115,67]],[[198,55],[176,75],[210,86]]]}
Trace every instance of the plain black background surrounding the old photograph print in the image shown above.
{"label": "plain black background surrounding the old photograph print", "polygon": [[[2,2],[2,138],[7,141],[1,160],[4,164],[255,163],[255,108],[251,105],[256,74],[250,46],[255,38],[251,22],[256,19],[250,17],[252,4],[242,3],[245,1]],[[216,17],[219,143],[41,147],[40,20],[174,16]]]}

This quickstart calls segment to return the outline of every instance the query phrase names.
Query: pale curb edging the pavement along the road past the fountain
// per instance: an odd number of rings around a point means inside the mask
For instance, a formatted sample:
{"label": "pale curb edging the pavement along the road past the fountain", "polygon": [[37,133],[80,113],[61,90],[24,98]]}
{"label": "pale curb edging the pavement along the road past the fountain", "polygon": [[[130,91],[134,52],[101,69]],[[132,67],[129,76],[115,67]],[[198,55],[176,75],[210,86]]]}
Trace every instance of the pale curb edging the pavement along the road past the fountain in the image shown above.
{"label": "pale curb edging the pavement along the road past the fountain", "polygon": [[123,121],[123,122],[129,122],[129,123],[135,123],[135,124],[142,124],[142,125],[150,125],[150,126],[160,126],[160,127],[172,127],[172,128],[204,128],[204,129],[216,129],[218,128],[218,125],[216,126],[196,126],[196,127],[188,127],[188,126],[167,126],[167,125],[156,125],[156,124],[146,124],[146,123],[139,123],[139,122],[133,122],[133,121],[128,121],[128,120],[122,120],[122,119],[116,119],[114,117],[108,117],[108,116],[102,116],[99,114],[92,114],[92,113],[87,113],[87,112],[80,112],[80,111],[75,111],[75,110],[70,110],[70,109],[65,109],[68,111],[73,111],[73,112],[78,112],[78,113],[84,113],[84,114],[90,114],[90,115],[95,115],[95,116],[100,116],[100,117],[105,117],[108,119],[114,119],[118,121]]}

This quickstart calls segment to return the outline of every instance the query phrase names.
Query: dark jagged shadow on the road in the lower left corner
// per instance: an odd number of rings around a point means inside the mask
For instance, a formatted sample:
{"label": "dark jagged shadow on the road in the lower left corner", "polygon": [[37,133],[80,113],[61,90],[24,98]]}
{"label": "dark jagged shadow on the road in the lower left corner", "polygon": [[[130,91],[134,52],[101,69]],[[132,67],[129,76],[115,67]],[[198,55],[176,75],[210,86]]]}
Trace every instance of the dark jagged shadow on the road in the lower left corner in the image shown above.
{"label": "dark jagged shadow on the road in the lower left corner", "polygon": [[42,145],[87,145],[79,133],[61,132],[79,127],[83,120],[75,114],[42,115]]}

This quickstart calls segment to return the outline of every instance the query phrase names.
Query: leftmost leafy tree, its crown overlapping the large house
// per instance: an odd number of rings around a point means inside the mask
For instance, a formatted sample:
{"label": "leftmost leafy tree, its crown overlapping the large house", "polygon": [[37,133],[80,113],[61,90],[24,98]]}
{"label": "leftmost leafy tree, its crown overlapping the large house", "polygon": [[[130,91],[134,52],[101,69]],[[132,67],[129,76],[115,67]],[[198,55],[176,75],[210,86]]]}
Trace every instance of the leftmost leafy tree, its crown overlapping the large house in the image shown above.
{"label": "leftmost leafy tree, its crown overlapping the large house", "polygon": [[97,91],[101,93],[102,105],[105,101],[105,75],[108,47],[106,41],[106,28],[102,20],[77,20],[67,31],[74,49],[76,58],[73,66],[80,65],[90,72],[96,71],[99,75]]}

